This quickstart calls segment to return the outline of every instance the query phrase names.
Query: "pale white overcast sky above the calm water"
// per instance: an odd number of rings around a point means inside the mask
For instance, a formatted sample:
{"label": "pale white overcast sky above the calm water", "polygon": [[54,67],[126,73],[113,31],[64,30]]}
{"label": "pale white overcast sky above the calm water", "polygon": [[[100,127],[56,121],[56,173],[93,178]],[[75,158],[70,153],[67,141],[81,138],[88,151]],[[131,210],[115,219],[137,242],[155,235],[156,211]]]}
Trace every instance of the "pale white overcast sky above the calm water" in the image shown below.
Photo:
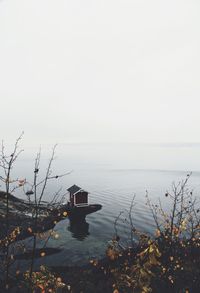
{"label": "pale white overcast sky above the calm water", "polygon": [[199,0],[0,0],[0,139],[200,143],[199,13]]}

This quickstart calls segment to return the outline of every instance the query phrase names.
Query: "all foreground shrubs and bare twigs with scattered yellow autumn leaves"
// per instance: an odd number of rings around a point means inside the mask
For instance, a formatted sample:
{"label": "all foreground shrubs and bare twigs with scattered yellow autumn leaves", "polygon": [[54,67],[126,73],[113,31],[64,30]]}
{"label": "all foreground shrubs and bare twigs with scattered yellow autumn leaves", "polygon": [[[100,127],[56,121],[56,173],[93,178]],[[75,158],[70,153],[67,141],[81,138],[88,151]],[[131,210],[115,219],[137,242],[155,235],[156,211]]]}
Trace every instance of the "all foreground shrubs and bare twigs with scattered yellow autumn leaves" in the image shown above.
{"label": "all foreground shrubs and bare twigs with scattered yellow autumn leaves", "polygon": [[[37,255],[37,237],[33,233],[33,247],[30,267],[27,271],[16,271],[15,239],[20,234],[20,227],[11,229],[9,225],[9,194],[16,188],[25,188],[25,180],[11,180],[13,164],[16,161],[18,142],[14,151],[6,156],[2,146],[0,166],[5,184],[6,209],[4,220],[7,228],[6,237],[0,240],[1,284],[2,292],[133,292],[133,293],[198,293],[200,292],[200,209],[197,198],[188,189],[188,180],[172,185],[171,192],[164,195],[170,201],[171,209],[165,211],[161,201],[152,203],[146,194],[147,208],[150,208],[155,221],[155,236],[150,237],[138,231],[134,225],[134,199],[128,212],[120,213],[114,223],[115,235],[110,242],[103,260],[91,260],[88,266],[35,268]],[[53,150],[54,154],[54,150]],[[37,227],[40,217],[39,207],[49,179],[52,176],[50,159],[45,178],[38,180],[40,154],[37,155],[32,186],[35,208],[32,217]],[[38,180],[38,181],[37,181]],[[11,188],[12,184],[14,187]],[[41,187],[41,189],[39,189]],[[40,193],[39,193],[40,190]],[[118,223],[126,222],[130,227],[130,243],[125,245],[118,235]],[[29,227],[32,231],[33,227]],[[48,238],[54,235],[49,232]],[[55,235],[54,235],[55,236]],[[23,247],[23,251],[24,247]],[[40,257],[45,257],[40,252]]]}

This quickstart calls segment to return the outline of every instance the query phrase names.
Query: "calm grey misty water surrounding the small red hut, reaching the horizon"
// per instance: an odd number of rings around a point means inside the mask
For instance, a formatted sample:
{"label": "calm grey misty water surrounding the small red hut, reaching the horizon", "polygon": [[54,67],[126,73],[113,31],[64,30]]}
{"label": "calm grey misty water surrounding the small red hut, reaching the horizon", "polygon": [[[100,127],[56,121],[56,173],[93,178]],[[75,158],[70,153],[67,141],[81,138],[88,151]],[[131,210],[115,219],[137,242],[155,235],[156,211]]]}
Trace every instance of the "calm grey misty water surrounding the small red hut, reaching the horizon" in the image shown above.
{"label": "calm grey misty water surrounding the small red hut, reaching the horizon", "polygon": [[[14,175],[31,180],[36,149],[26,148],[15,165]],[[40,173],[44,174],[51,155],[51,146],[43,147]],[[73,184],[89,192],[90,203],[99,203],[100,211],[88,215],[86,223],[70,227],[68,219],[59,222],[55,231],[58,239],[51,239],[48,247],[60,252],[42,259],[47,265],[84,264],[94,257],[103,257],[108,241],[114,234],[114,221],[121,211],[129,208],[133,195],[134,224],[141,231],[153,234],[154,222],[146,206],[148,190],[153,202],[159,198],[168,208],[165,192],[172,182],[179,182],[192,171],[189,187],[195,195],[200,191],[199,145],[137,145],[137,144],[61,144],[52,165],[53,174],[70,174],[49,182],[45,200],[51,200],[62,187],[62,193]],[[14,176],[13,175],[13,176]],[[24,197],[18,190],[17,195]],[[68,198],[66,198],[67,201]],[[129,227],[119,221],[118,233],[124,243],[130,241]],[[30,239],[26,240],[29,243]],[[43,241],[38,245],[42,247]],[[38,264],[40,260],[37,260]]]}

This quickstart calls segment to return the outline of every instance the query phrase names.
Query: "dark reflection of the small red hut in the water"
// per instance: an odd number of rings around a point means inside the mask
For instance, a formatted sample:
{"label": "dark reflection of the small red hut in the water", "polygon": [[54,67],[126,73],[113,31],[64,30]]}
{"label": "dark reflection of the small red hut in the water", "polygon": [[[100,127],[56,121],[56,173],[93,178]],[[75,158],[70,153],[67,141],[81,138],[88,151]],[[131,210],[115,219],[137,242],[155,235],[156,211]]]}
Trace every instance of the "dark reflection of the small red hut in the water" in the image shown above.
{"label": "dark reflection of the small red hut in the water", "polygon": [[79,241],[83,241],[89,233],[89,224],[85,217],[69,221],[68,230],[72,233],[72,237]]}

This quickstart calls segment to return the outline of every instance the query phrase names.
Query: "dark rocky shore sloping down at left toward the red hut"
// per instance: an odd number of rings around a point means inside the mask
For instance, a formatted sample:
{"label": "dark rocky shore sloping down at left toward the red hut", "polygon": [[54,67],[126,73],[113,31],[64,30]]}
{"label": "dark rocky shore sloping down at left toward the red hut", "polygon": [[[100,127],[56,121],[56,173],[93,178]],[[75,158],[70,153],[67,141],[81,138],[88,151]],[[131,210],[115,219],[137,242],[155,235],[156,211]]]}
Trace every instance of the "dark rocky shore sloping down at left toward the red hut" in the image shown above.
{"label": "dark rocky shore sloping down at left toward the red hut", "polygon": [[[35,211],[35,204],[33,202],[24,201],[12,194],[8,195],[9,213],[6,215],[6,192],[0,191],[0,239],[4,239],[8,232],[11,233],[14,229],[19,227],[20,233],[16,235],[16,241],[23,240],[32,236],[34,233],[42,233],[53,229],[59,221],[65,219],[67,216],[67,205],[50,205],[42,202],[38,208],[39,216],[37,218],[37,225],[35,225],[35,218],[33,213]],[[7,231],[9,227],[9,231]]]}

